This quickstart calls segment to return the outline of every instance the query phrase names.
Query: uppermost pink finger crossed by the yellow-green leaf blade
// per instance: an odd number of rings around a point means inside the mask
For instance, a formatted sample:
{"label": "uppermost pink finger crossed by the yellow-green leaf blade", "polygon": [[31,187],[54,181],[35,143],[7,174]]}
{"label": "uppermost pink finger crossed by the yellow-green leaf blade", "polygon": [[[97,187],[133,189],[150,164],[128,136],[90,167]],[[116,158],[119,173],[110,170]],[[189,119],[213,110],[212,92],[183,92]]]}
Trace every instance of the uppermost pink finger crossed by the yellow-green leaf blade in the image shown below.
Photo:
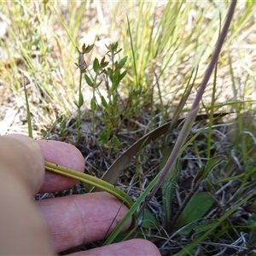
{"label": "uppermost pink finger crossed by the yellow-green leaf blade", "polygon": [[[67,143],[55,141],[37,141],[37,143],[44,154],[44,160],[78,172],[84,172],[84,157],[78,148]],[[44,183],[39,193],[69,189],[75,183],[78,183],[78,181],[73,178],[61,176],[53,172],[46,172]]]}

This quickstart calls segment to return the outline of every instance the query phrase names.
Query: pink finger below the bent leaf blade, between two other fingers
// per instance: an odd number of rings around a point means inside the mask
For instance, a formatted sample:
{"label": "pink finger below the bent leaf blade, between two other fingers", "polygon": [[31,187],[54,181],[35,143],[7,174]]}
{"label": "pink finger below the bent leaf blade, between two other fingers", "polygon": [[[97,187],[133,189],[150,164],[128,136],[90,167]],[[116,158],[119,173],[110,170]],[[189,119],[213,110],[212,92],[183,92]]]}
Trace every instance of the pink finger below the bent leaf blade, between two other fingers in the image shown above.
{"label": "pink finger below the bent leaf blade, between two other fingers", "polygon": [[[127,212],[125,205],[104,192],[51,198],[37,203],[57,252],[106,238]],[[131,221],[125,229],[130,225]]]}

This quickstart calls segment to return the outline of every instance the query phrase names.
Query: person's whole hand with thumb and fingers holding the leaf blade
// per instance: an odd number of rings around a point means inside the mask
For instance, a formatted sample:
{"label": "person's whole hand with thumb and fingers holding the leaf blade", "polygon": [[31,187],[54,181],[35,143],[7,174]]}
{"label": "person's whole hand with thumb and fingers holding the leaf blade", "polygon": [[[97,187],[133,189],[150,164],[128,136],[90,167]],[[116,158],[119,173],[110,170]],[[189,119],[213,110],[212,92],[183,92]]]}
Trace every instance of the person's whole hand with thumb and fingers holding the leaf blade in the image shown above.
{"label": "person's whole hand with thumb and fingers holding the leaf blade", "polygon": [[[127,212],[119,200],[103,192],[33,201],[38,192],[67,189],[77,182],[45,172],[44,160],[84,171],[83,156],[67,143],[0,137],[0,255],[54,255],[103,239],[113,218],[111,230]],[[150,241],[134,239],[69,255],[160,256],[160,252]]]}

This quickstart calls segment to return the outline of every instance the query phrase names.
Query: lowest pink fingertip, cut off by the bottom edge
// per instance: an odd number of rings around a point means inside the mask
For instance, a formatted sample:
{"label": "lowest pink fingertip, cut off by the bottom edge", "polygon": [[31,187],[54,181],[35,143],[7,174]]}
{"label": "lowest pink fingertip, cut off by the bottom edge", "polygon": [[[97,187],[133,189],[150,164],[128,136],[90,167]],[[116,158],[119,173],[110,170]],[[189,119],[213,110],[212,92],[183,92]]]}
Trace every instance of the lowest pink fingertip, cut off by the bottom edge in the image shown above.
{"label": "lowest pink fingertip, cut off by the bottom edge", "polygon": [[132,239],[129,241],[121,241],[105,247],[98,247],[85,252],[71,253],[69,256],[160,256],[160,251],[151,241],[143,239]]}

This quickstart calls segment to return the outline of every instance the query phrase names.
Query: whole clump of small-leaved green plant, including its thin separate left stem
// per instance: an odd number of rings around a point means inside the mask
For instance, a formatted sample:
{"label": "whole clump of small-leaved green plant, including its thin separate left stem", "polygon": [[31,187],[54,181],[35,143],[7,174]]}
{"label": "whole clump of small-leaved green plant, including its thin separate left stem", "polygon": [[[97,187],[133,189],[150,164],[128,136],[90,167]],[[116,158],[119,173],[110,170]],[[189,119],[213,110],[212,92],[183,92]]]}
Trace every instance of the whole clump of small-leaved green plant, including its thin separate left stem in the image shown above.
{"label": "whole clump of small-leaved green plant, including its thin separate left stem", "polygon": [[[79,64],[76,64],[77,68],[80,69],[79,79],[79,102],[76,106],[79,110],[79,119],[77,121],[77,127],[80,134],[81,125],[81,112],[80,108],[84,104],[84,98],[82,95],[82,78],[84,75],[85,83],[92,88],[92,98],[90,100],[90,111],[91,122],[92,122],[92,134],[96,133],[96,111],[101,111],[102,119],[101,122],[105,126],[105,129],[101,132],[99,137],[99,143],[107,148],[112,148],[115,152],[120,147],[119,139],[115,135],[122,127],[122,119],[127,116],[128,112],[125,112],[125,106],[119,105],[119,86],[122,79],[125,78],[126,70],[124,69],[127,56],[119,61],[116,61],[118,54],[121,51],[119,49],[118,42],[106,45],[108,51],[106,55],[99,61],[95,58],[92,64],[92,70],[88,70],[88,65],[84,61],[84,54],[88,54],[93,49],[93,44],[85,47],[82,46],[82,50],[79,49]],[[107,58],[109,59],[107,61]],[[105,85],[107,91],[107,97],[103,96],[100,92],[99,86]],[[100,102],[96,100],[96,96],[99,95]],[[131,109],[130,109],[131,112]]]}

